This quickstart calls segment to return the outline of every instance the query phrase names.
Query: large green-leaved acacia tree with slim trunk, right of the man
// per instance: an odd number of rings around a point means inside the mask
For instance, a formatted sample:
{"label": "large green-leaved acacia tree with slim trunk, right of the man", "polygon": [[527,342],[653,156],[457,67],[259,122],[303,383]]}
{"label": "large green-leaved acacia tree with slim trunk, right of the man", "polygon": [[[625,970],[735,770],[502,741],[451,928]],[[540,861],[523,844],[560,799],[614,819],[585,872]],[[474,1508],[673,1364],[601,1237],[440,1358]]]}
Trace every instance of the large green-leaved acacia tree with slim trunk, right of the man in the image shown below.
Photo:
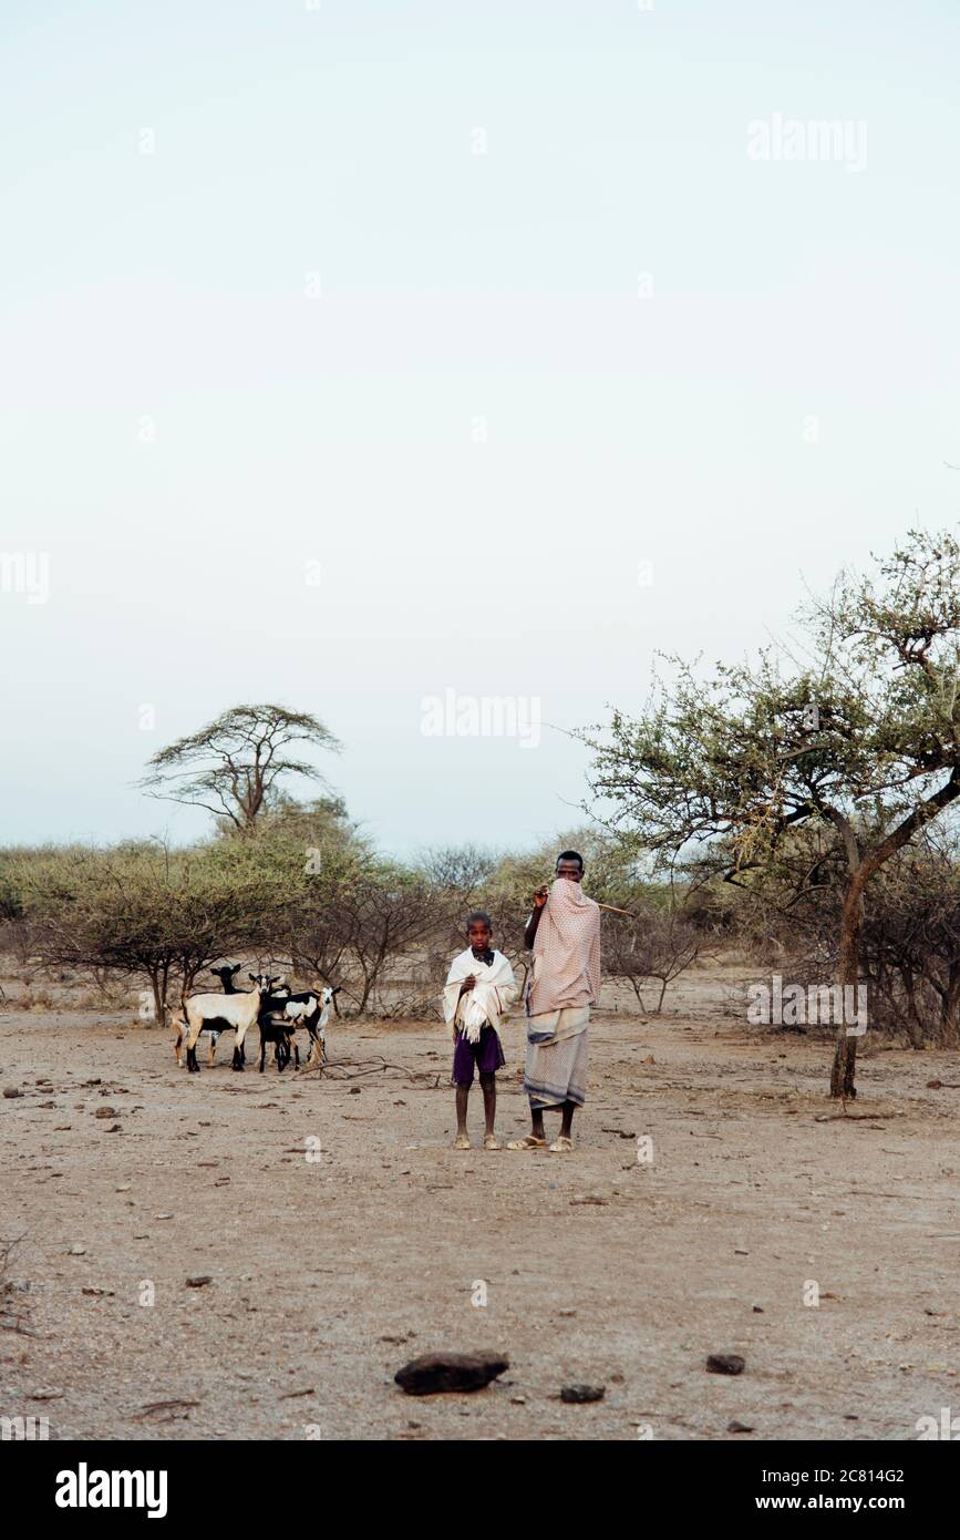
{"label": "large green-leaved acacia tree with slim trunk, right of the man", "polygon": [[[911,530],[866,578],[840,573],[783,650],[702,679],[671,659],[645,711],[578,736],[608,822],[663,865],[711,852],[729,882],[817,824],[838,862],[840,983],[860,978],[872,876],[960,796],[960,547]],[[823,869],[809,881],[822,881]],[[855,1095],[857,1038],[838,1027],[831,1095]]]}

